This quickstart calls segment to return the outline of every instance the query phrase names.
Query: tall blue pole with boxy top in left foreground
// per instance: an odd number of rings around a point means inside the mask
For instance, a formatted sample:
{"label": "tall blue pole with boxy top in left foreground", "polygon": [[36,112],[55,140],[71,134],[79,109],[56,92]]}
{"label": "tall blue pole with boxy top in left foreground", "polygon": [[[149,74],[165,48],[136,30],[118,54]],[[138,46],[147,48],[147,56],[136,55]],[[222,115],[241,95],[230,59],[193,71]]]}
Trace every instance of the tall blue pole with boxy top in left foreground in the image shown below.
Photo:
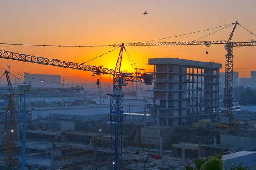
{"label": "tall blue pole with boxy top in left foreground", "polygon": [[23,132],[22,132],[22,162],[21,169],[25,170],[25,141],[26,141],[26,92],[29,93],[31,85],[18,85],[19,91],[24,93],[24,104],[23,104]]}

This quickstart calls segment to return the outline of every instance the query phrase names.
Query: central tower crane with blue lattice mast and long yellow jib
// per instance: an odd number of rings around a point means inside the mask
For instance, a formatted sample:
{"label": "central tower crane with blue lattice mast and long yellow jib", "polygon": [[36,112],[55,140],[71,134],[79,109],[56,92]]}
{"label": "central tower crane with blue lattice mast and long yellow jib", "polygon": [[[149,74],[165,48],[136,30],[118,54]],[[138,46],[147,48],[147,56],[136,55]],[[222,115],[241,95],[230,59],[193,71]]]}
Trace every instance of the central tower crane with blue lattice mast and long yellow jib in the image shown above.
{"label": "central tower crane with blue lattice mast and long yellow jib", "polygon": [[32,55],[19,54],[9,51],[0,50],[0,58],[12,59],[16,61],[31,62],[43,65],[52,65],[62,68],[70,68],[82,71],[90,71],[92,75],[109,74],[113,75],[113,93],[110,94],[110,122],[111,122],[111,170],[120,170],[122,166],[122,122],[123,122],[123,99],[122,86],[127,85],[127,82],[143,82],[145,85],[152,85],[153,75],[143,73],[140,76],[127,75],[121,72],[122,54],[126,51],[124,44],[119,45],[120,52],[116,62],[115,69],[96,67],[61,61],[57,59],[48,59],[43,57],[35,57]]}

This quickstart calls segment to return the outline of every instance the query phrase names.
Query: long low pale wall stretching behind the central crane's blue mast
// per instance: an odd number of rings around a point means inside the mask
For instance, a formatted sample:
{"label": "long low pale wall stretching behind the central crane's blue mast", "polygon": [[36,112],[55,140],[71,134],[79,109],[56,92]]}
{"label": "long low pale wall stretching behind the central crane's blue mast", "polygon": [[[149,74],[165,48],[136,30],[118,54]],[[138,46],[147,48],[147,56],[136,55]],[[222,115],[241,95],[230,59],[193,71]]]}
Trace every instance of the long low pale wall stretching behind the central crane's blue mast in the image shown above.
{"label": "long low pale wall stretching behind the central crane's blue mast", "polygon": [[[146,103],[145,103],[146,104]],[[124,105],[124,112],[128,113],[144,113],[144,103]],[[109,105],[84,105],[84,106],[67,106],[67,107],[49,107],[49,108],[34,108],[32,110],[32,120],[38,119],[38,117],[46,118],[49,114],[64,114],[64,115],[98,115],[108,114],[110,111]]]}

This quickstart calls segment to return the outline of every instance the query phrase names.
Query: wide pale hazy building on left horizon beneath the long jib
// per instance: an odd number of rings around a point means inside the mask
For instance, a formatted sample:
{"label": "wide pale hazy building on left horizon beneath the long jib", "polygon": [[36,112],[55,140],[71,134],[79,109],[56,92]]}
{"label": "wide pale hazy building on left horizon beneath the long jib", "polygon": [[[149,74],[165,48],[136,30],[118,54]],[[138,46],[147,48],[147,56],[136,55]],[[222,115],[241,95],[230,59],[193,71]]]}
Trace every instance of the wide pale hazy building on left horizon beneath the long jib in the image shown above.
{"label": "wide pale hazy building on left horizon beneath the long jib", "polygon": [[[24,73],[24,81],[37,88],[60,88],[61,75]],[[43,80],[43,81],[42,81]]]}

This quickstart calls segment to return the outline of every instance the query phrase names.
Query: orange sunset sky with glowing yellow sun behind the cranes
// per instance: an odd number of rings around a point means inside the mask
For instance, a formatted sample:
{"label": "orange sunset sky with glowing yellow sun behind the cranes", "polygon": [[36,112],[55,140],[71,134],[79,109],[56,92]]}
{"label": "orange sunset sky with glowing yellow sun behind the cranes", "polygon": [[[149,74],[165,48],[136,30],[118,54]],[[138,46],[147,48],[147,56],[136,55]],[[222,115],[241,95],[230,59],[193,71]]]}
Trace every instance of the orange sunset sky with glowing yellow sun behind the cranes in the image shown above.
{"label": "orange sunset sky with glowing yellow sun behind the cranes", "polygon": [[[0,42],[41,45],[113,45],[142,42],[223,26],[238,21],[256,34],[255,0],[8,0],[1,2]],[[147,11],[148,14],[143,15]],[[228,40],[233,26],[203,31],[156,42]],[[233,42],[256,39],[253,34],[237,26]],[[102,55],[115,47],[58,48],[0,45],[0,50],[30,54],[70,62],[82,63]],[[137,68],[152,71],[148,58],[179,57],[222,64],[225,68],[224,45],[181,45],[126,47]],[[205,52],[208,51],[206,56]],[[239,77],[250,77],[256,70],[256,47],[233,48],[233,70]],[[115,68],[119,48],[86,64]],[[60,74],[65,81],[86,83],[94,81],[90,72],[77,71],[25,62],[0,59],[0,72],[12,65],[17,74]],[[135,66],[134,66],[135,67]],[[124,53],[122,70],[133,72]],[[13,79],[13,77],[12,77]],[[93,80],[92,80],[93,79]],[[103,81],[109,81],[103,75]],[[95,80],[96,81],[96,80]],[[1,79],[0,83],[6,83]]]}

